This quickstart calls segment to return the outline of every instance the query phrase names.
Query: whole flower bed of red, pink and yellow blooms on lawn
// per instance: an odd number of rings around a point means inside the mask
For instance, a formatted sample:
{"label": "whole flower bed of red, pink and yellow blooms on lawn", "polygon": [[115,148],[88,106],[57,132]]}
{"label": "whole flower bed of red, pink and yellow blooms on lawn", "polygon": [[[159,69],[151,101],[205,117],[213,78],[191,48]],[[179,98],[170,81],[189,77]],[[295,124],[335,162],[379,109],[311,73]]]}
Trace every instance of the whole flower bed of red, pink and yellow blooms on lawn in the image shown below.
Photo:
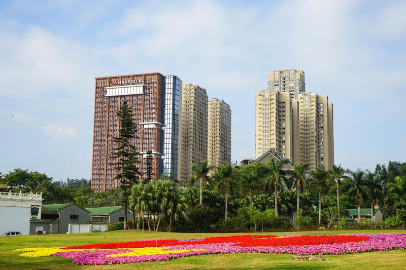
{"label": "whole flower bed of red, pink and yellow blooms on lawn", "polygon": [[406,234],[325,236],[228,236],[189,240],[148,240],[61,248],[18,249],[27,257],[59,256],[85,264],[164,261],[185,256],[234,253],[346,254],[406,249]]}

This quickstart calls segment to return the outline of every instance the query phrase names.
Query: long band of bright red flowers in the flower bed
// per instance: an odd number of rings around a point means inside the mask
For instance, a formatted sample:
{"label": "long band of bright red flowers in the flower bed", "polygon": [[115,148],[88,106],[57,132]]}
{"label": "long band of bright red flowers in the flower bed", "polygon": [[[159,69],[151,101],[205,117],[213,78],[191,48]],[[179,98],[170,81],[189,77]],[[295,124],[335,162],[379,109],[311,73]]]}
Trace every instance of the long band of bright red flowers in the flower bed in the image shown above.
{"label": "long band of bright red flowers in the flower bed", "polygon": [[333,243],[347,243],[347,242],[360,242],[367,241],[369,237],[366,236],[293,236],[293,237],[277,237],[274,235],[264,236],[225,236],[225,237],[210,237],[196,241],[182,241],[176,239],[159,239],[159,240],[144,240],[133,242],[119,242],[119,243],[104,243],[104,244],[91,244],[82,246],[66,247],[62,249],[125,249],[125,248],[146,248],[146,247],[164,247],[173,245],[186,245],[186,244],[218,244],[218,243],[235,243],[234,246],[240,247],[260,247],[260,246],[302,246],[302,245],[320,245],[320,244],[333,244]]}

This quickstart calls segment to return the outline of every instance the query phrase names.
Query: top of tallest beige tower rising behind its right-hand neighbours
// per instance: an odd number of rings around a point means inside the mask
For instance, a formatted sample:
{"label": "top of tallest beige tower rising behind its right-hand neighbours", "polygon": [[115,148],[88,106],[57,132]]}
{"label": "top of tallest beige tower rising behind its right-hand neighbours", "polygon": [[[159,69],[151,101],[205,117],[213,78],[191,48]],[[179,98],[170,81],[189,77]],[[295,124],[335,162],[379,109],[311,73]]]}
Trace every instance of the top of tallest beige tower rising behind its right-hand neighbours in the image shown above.
{"label": "top of tallest beige tower rising behind its right-hand neighbours", "polygon": [[268,73],[268,90],[289,92],[294,98],[306,92],[304,72],[296,69],[274,70]]}

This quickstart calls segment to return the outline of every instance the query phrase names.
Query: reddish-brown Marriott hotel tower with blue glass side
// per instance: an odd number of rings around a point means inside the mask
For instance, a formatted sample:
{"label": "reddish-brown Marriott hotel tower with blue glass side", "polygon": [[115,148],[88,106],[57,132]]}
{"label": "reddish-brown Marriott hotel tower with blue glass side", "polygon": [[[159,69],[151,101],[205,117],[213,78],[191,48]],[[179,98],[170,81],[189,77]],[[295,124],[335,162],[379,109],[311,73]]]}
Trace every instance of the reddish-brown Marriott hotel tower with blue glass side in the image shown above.
{"label": "reddish-brown Marriott hotel tower with blue glass side", "polygon": [[[153,173],[178,178],[179,96],[182,81],[158,72],[95,78],[91,187],[104,191],[118,186],[111,163],[120,120],[116,113],[127,100],[137,123],[132,143],[140,152],[140,172],[145,172],[146,152],[153,153]],[[145,175],[144,175],[145,177]]]}

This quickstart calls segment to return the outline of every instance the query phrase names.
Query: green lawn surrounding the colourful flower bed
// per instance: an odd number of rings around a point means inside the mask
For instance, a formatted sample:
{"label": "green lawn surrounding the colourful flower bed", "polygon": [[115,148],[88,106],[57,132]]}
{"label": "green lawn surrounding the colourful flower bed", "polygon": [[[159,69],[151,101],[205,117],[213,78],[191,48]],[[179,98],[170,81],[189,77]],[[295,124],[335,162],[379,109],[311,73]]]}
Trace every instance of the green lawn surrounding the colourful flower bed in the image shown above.
{"label": "green lawn surrounding the colourful flower bed", "polygon": [[[295,234],[376,234],[406,233],[406,230],[345,230],[332,232],[300,232],[300,233],[264,233],[273,235]],[[346,255],[323,255],[326,261],[293,261],[289,254],[226,254],[191,256],[162,262],[144,262],[115,265],[79,266],[72,259],[60,257],[21,257],[18,248],[30,247],[65,247],[72,245],[127,242],[146,239],[188,239],[236,234],[181,234],[151,233],[140,231],[115,231],[93,234],[70,235],[32,235],[21,237],[0,238],[0,269],[404,269],[406,268],[406,250],[366,252]],[[241,234],[244,235],[244,234]]]}

